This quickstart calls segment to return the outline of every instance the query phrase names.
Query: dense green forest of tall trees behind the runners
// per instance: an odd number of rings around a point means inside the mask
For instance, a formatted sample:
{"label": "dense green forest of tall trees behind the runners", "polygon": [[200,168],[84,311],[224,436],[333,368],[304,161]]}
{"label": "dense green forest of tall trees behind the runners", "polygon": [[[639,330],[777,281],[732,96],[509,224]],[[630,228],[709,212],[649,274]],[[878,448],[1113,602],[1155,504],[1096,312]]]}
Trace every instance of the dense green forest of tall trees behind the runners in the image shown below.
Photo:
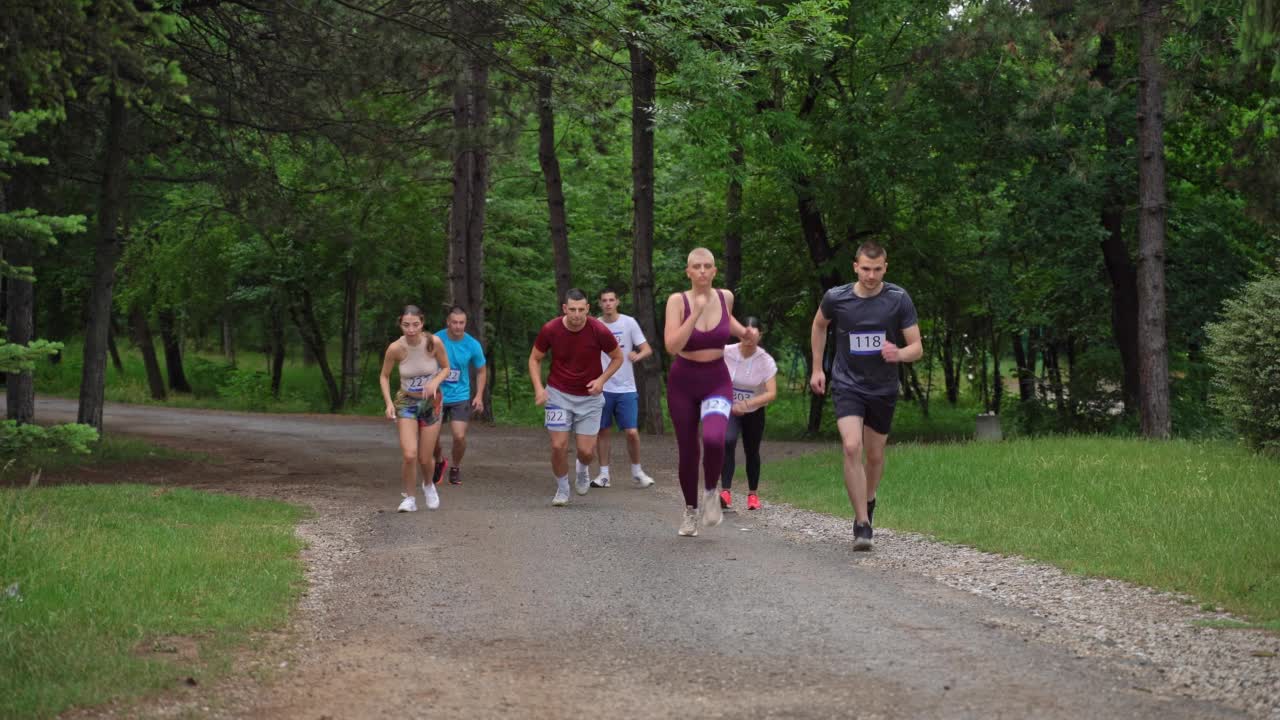
{"label": "dense green forest of tall trees behind the runners", "polygon": [[77,363],[101,428],[125,342],[154,397],[252,351],[349,407],[406,304],[518,379],[571,286],[660,338],[695,246],[804,366],[872,240],[906,401],[1194,434],[1206,328],[1280,258],[1275,0],[6,0],[0,33],[19,421]]}

